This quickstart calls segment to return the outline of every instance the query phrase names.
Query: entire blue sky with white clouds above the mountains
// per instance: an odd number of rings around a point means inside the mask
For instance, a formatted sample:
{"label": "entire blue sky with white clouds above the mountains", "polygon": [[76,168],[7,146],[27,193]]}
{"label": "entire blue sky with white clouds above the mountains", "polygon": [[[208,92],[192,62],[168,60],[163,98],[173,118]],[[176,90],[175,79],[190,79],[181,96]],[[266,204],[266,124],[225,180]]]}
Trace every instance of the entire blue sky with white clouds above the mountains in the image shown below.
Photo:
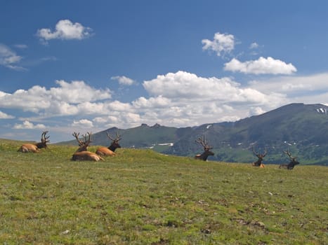
{"label": "entire blue sky with white clouds above the mountains", "polygon": [[327,1],[0,1],[0,138],[328,105]]}

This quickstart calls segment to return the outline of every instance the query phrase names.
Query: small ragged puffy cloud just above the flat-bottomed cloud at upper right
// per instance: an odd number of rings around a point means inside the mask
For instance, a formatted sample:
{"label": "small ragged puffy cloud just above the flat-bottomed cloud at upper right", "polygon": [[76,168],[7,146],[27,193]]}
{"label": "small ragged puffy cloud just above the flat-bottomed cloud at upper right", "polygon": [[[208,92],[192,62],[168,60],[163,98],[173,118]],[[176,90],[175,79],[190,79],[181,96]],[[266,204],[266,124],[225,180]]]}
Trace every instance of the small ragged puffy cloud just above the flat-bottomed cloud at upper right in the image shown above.
{"label": "small ragged puffy cloud just above the flat-bottomed cloud at upper right", "polygon": [[212,50],[216,55],[221,56],[231,52],[235,48],[235,37],[231,34],[214,34],[214,40],[203,39],[203,50]]}

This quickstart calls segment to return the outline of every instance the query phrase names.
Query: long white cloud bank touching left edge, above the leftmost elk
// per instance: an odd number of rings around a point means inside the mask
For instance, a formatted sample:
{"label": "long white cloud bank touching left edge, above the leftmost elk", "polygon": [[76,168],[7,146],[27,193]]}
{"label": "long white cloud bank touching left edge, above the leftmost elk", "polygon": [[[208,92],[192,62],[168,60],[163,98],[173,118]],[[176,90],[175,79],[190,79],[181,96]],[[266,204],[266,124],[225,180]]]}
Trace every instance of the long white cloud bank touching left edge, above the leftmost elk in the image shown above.
{"label": "long white cloud bank touching left edge, above the leftmost elk", "polygon": [[81,110],[90,111],[90,105],[83,103],[96,102],[103,99],[110,99],[109,89],[96,90],[84,81],[72,81],[67,83],[58,80],[59,87],[46,87],[35,85],[29,90],[17,90],[13,94],[0,92],[0,104],[3,108],[21,109],[48,115],[74,115]]}

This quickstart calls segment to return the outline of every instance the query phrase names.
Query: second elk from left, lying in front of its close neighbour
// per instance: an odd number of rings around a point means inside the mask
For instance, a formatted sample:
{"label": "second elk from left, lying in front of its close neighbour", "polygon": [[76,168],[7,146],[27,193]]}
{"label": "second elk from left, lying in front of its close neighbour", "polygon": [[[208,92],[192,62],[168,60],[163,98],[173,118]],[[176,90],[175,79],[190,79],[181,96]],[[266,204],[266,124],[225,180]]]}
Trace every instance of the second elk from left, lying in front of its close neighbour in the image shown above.
{"label": "second elk from left, lying in front of its close neighbour", "polygon": [[87,151],[88,146],[91,144],[91,132],[87,132],[87,134],[82,135],[84,140],[79,139],[79,133],[74,132],[73,137],[77,139],[77,143],[79,143],[79,148],[72,155],[72,160],[74,161],[96,161],[104,160],[100,155],[96,153],[91,153],[91,151]]}

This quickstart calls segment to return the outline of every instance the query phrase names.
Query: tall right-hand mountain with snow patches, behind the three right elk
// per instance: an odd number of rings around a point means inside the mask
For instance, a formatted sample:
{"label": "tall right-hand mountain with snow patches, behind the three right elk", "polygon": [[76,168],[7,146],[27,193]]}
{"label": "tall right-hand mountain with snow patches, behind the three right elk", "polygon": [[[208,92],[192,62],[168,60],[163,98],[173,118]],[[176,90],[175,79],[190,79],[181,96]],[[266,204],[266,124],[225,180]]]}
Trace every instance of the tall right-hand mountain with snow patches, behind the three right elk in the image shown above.
{"label": "tall right-hand mountain with snow patches, behind the three right elk", "polygon": [[[321,104],[289,104],[260,116],[252,116],[235,123],[202,125],[183,137],[167,151],[177,155],[189,155],[202,148],[192,139],[206,136],[214,147],[214,160],[251,162],[252,153],[265,151],[265,162],[287,162],[282,154],[288,148],[303,163],[327,165],[328,155],[328,107]],[[188,149],[181,152],[181,149]]]}

